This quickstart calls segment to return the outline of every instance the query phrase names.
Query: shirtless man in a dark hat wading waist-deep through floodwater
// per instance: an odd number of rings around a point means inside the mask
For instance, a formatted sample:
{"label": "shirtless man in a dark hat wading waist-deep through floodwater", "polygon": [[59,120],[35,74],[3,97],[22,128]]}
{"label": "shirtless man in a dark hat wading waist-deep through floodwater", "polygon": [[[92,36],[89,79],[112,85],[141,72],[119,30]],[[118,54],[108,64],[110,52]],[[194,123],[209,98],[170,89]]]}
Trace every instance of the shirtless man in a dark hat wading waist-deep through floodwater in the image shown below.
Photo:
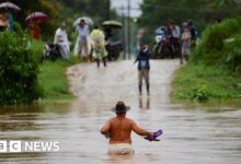
{"label": "shirtless man in a dark hat wading waist-deep through floodwater", "polygon": [[129,106],[125,106],[123,102],[118,102],[112,109],[116,113],[116,117],[108,119],[101,128],[101,133],[110,138],[107,152],[110,155],[134,154],[130,139],[131,131],[135,131],[139,136],[153,138],[152,132],[141,129],[134,120],[126,118],[126,112],[129,109]]}

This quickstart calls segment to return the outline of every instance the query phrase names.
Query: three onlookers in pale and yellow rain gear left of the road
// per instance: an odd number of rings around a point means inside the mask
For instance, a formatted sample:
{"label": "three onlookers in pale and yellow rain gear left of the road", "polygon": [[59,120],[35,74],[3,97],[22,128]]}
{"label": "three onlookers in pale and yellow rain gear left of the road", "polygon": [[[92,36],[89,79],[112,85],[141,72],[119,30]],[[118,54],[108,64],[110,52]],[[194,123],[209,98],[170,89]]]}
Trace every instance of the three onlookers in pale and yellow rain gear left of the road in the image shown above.
{"label": "three onlookers in pale and yellow rain gear left of the road", "polygon": [[[84,19],[81,19],[76,26],[77,40],[74,46],[74,54],[77,56],[77,62],[81,59],[87,62],[91,61],[91,58],[96,61],[100,67],[102,60],[104,67],[106,67],[107,51],[105,49],[105,35],[104,32],[99,28],[97,25],[93,26],[92,32]],[[68,36],[66,32],[66,23],[62,23],[55,33],[54,44],[59,47],[59,51],[64,59],[69,59],[70,47]],[[92,56],[91,56],[92,54]]]}

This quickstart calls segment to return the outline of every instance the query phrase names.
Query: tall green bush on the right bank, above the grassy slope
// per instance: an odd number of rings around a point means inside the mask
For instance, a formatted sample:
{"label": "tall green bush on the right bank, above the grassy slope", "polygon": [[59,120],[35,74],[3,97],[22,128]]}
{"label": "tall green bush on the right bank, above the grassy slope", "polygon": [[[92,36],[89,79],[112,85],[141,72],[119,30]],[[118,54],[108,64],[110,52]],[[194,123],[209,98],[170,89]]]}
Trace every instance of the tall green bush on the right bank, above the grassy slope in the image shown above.
{"label": "tall green bush on the right bank, above the grassy slope", "polygon": [[[207,65],[240,65],[241,17],[228,19],[220,24],[214,24],[204,31],[202,42],[192,56],[192,61]],[[233,38],[232,42],[229,42]]]}

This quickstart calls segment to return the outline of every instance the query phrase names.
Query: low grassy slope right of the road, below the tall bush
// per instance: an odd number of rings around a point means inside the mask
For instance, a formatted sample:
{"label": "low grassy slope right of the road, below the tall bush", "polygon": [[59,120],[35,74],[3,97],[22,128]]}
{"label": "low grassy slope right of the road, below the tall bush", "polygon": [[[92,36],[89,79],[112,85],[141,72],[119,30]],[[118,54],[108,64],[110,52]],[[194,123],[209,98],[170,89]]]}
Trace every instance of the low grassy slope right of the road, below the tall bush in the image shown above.
{"label": "low grassy slope right of the road, below the tall bush", "polygon": [[217,66],[188,63],[175,72],[172,101],[241,99],[241,77]]}

